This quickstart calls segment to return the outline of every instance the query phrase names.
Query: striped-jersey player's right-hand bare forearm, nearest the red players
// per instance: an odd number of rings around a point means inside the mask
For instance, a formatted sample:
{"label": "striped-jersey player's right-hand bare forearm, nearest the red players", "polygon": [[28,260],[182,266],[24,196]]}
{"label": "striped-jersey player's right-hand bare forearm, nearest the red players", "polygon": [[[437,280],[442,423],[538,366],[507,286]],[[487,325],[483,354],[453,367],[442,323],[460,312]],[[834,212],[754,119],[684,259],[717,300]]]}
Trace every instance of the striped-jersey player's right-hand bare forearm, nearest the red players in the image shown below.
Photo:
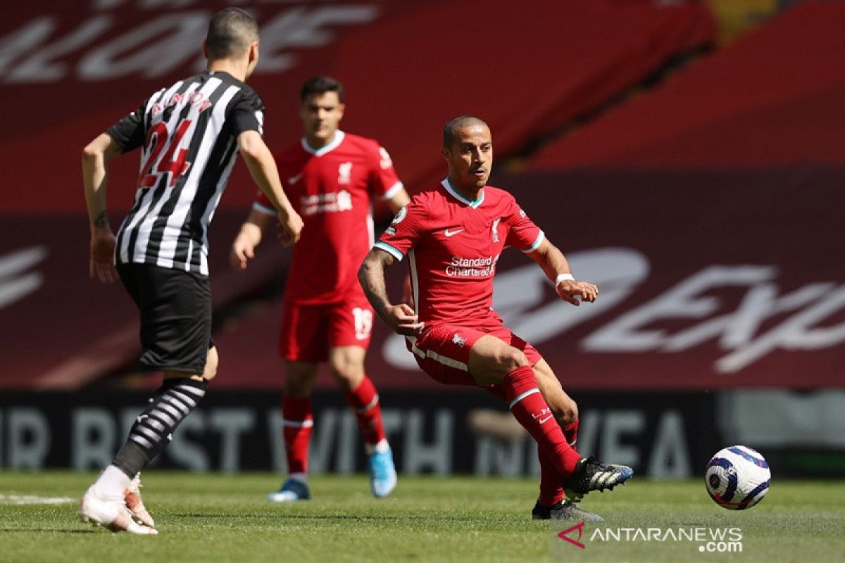
{"label": "striped-jersey player's right-hand bare forearm, nearest the red players", "polygon": [[237,146],[247,163],[249,174],[258,185],[270,203],[279,212],[279,223],[282,230],[282,242],[292,245],[299,240],[303,230],[303,219],[297,214],[281,187],[279,171],[275,166],[273,154],[264,143],[264,139],[257,131],[244,131],[237,136]]}

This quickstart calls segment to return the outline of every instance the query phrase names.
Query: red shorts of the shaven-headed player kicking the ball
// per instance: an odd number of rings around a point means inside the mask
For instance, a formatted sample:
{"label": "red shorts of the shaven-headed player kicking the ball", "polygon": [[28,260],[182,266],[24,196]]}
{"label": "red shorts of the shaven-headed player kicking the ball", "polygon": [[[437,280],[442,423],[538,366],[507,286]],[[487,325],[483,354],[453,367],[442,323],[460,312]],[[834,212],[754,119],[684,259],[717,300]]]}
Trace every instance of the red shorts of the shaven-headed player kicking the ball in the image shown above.
{"label": "red shorts of the shaven-headed player kicking the ball", "polygon": [[472,385],[477,383],[468,368],[470,349],[478,338],[490,334],[522,350],[531,365],[542,359],[531,344],[510,332],[510,328],[499,326],[492,328],[466,328],[450,324],[440,324],[417,337],[406,337],[406,344],[414,354],[417,365],[434,381],[446,385]]}

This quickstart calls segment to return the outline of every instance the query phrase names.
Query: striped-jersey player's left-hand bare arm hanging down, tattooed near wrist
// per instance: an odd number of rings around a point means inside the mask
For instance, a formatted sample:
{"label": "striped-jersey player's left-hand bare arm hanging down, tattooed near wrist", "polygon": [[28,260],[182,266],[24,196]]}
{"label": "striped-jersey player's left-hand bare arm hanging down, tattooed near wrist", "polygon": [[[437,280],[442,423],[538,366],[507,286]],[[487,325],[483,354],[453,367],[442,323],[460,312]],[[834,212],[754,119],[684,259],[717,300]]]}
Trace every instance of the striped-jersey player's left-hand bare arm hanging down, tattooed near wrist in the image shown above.
{"label": "striped-jersey player's left-hand bare arm hanging down, tattooed near wrist", "polygon": [[120,145],[107,133],[101,133],[82,151],[82,178],[91,230],[88,270],[91,278],[99,279],[104,284],[111,284],[117,279],[114,267],[115,238],[106,209],[106,185],[108,161],[120,153]]}

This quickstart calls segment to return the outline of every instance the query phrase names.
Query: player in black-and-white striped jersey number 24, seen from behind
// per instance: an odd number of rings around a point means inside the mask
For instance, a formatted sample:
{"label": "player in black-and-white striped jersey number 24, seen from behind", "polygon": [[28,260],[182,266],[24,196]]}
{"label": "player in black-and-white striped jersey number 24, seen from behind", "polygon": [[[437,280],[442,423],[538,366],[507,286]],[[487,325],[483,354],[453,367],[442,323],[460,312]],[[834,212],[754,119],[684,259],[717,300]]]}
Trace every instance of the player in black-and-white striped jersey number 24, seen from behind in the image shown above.
{"label": "player in black-and-white striped jersey number 24, seen from behind", "polygon": [[[258,24],[242,9],[223,9],[210,20],[203,51],[207,70],[155,92],[83,153],[90,275],[123,282],[140,311],[141,363],[163,372],[127,441],[79,502],[83,520],[113,532],[157,533],[140,500],[139,472],[217,371],[207,231],[238,153],[286,242],[297,241],[303,227],[261,138],[264,104],[244,84],[259,59]],[[108,163],[139,148],[135,202],[115,238],[106,212]]]}

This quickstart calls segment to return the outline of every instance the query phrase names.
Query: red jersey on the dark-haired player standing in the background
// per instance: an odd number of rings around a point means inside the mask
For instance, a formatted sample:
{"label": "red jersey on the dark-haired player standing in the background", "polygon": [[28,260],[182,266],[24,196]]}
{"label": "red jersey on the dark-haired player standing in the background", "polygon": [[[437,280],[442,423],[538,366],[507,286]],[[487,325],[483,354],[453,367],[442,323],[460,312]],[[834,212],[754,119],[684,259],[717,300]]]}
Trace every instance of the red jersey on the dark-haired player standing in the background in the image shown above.
{"label": "red jersey on the dark-haired player standing in the background", "polygon": [[[357,271],[373,246],[371,198],[390,199],[402,188],[390,155],[377,141],[338,131],[314,150],[305,138],[276,155],[279,176],[305,227],[293,246],[286,297],[329,304],[350,292],[363,295]],[[275,215],[259,192],[254,208]]]}

